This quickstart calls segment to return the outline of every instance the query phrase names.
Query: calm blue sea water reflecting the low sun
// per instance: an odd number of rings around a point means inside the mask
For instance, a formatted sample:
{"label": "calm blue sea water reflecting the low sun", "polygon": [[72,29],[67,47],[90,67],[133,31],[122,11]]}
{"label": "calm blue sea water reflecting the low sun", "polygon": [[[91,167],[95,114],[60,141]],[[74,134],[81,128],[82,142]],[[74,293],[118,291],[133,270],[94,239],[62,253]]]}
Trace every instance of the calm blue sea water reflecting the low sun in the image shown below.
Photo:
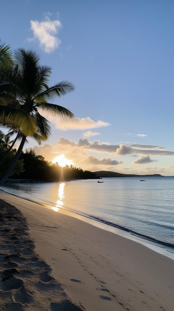
{"label": "calm blue sea water reflecting the low sun", "polygon": [[2,190],[174,246],[174,177],[10,183]]}

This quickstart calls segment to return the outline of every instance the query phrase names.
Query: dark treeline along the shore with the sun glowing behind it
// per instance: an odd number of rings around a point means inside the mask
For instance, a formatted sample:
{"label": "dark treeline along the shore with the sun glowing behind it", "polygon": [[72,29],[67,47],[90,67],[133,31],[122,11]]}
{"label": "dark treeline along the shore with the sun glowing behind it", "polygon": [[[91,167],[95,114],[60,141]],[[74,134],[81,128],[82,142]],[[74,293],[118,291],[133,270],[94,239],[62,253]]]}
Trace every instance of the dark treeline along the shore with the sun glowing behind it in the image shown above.
{"label": "dark treeline along the shore with the sun glowing behind it", "polygon": [[95,178],[95,173],[72,165],[61,167],[58,163],[46,161],[33,149],[22,152],[10,178],[57,181],[75,178]]}

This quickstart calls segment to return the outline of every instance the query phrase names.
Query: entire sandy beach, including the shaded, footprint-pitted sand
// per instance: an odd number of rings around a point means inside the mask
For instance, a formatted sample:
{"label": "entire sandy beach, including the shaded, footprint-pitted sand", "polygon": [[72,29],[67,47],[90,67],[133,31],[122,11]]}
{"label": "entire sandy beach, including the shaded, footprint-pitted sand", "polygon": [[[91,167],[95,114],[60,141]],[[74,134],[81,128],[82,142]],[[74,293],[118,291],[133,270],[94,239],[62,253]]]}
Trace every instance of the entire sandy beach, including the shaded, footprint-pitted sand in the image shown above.
{"label": "entire sandy beach, including the shaded, footprint-pitted sand", "polygon": [[3,191],[0,200],[0,310],[174,310],[171,258]]}

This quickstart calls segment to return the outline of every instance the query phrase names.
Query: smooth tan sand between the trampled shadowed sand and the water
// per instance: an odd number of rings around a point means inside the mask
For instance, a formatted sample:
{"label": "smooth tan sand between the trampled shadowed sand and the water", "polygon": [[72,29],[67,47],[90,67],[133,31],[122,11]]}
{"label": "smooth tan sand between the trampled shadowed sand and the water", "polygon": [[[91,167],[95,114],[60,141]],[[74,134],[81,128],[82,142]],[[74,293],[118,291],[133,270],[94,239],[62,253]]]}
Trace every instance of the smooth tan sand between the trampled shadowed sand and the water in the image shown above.
{"label": "smooth tan sand between the trampled shadowed sand and the water", "polygon": [[[35,252],[52,268],[51,277],[61,284],[72,304],[86,311],[173,311],[172,259],[133,240],[3,191],[0,199],[15,206],[26,218]],[[46,297],[43,283],[39,281],[39,293]],[[57,298],[54,291],[49,291],[49,295],[50,300]],[[60,301],[64,299],[62,291],[59,295]],[[25,310],[25,306],[21,308]],[[51,309],[38,310],[57,311],[58,303]]]}

